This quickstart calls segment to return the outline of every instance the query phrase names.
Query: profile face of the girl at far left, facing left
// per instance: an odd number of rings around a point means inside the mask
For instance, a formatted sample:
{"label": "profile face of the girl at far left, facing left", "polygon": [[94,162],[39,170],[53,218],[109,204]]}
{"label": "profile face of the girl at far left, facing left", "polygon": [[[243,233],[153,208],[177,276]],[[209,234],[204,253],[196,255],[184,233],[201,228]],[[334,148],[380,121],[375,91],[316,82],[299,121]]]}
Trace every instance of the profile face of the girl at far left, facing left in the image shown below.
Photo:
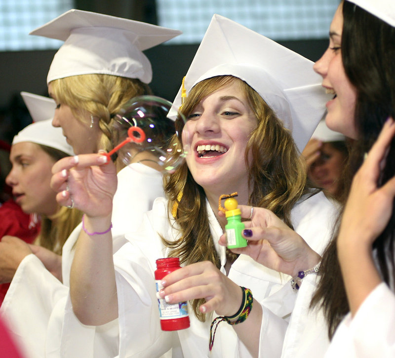
{"label": "profile face of the girl at far left, facing left", "polygon": [[20,142],[12,145],[12,169],[5,182],[12,187],[15,201],[26,213],[51,216],[56,213],[56,193],[50,187],[52,159],[36,143]]}

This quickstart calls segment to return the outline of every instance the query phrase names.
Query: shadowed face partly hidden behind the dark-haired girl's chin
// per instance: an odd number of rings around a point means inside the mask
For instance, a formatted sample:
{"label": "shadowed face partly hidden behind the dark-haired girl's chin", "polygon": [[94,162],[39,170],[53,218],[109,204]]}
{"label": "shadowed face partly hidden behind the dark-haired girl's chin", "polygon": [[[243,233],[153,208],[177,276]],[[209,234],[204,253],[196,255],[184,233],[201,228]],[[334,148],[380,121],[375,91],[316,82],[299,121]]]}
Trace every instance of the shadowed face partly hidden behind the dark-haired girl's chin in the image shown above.
{"label": "shadowed face partly hidden behind the dark-haired girl's chin", "polygon": [[309,176],[318,187],[336,195],[347,157],[330,143],[322,143],[319,151],[319,158],[309,168]]}

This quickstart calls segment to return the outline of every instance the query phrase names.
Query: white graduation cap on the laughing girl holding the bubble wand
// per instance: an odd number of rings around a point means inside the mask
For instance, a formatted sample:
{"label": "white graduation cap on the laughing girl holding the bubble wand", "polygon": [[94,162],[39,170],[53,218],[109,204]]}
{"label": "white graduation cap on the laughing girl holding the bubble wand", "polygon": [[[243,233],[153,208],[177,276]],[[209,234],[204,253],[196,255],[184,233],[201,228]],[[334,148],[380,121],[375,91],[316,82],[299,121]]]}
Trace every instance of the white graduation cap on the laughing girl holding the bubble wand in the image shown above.
{"label": "white graduation cap on the laughing girl holding the bubble wand", "polygon": [[[197,82],[219,75],[233,75],[255,89],[292,131],[299,151],[309,141],[330,98],[312,61],[215,14],[187,72],[185,89],[189,93]],[[173,109],[180,106],[181,88]]]}

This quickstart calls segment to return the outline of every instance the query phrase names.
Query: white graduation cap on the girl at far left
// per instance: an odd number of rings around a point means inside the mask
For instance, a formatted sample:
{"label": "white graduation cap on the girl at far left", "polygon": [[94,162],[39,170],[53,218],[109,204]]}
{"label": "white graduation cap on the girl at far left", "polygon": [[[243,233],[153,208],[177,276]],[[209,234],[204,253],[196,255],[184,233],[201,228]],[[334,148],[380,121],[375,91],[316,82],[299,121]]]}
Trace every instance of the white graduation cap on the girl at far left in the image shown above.
{"label": "white graduation cap on the girl at far left", "polygon": [[32,142],[55,148],[70,156],[74,156],[73,148],[66,142],[62,128],[52,126],[56,107],[55,101],[52,98],[29,92],[21,92],[21,96],[34,123],[29,124],[15,135],[12,144]]}

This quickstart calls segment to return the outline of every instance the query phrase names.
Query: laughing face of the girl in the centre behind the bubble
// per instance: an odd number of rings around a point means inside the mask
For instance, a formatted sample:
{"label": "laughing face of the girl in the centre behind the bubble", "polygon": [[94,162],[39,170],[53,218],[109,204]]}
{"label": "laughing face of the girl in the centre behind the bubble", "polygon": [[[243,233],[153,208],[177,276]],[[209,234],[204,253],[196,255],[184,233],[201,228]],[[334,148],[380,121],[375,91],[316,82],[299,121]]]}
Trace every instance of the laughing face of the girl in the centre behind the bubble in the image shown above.
{"label": "laughing face of the girl in the centre behind the bubble", "polygon": [[257,126],[244,91],[233,81],[203,98],[188,117],[183,143],[190,146],[187,164],[205,190],[227,193],[226,188],[247,185],[245,148]]}

